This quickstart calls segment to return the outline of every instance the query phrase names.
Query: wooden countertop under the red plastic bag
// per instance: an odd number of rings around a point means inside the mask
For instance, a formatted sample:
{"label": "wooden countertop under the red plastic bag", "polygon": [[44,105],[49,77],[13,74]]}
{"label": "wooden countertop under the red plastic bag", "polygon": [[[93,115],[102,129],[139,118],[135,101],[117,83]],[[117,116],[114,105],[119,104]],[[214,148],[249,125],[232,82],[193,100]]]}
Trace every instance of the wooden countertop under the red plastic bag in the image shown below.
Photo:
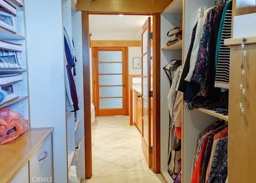
{"label": "wooden countertop under the red plastic bag", "polygon": [[53,127],[28,129],[13,142],[0,145],[0,182],[10,182],[52,131]]}

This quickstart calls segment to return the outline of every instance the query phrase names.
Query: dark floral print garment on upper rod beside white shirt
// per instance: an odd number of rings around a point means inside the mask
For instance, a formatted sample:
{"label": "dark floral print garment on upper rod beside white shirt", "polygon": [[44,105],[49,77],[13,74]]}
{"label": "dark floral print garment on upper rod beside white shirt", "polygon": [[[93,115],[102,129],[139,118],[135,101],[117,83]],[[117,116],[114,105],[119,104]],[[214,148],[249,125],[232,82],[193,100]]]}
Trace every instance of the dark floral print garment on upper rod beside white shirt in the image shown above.
{"label": "dark floral print garment on upper rod beside white shirt", "polygon": [[209,43],[210,43],[210,35],[212,30],[212,23],[215,16],[216,7],[212,8],[207,16],[206,21],[204,22],[204,27],[202,30],[202,36],[200,39],[198,55],[196,59],[196,66],[194,70],[194,74],[192,77],[192,81],[206,84],[206,76],[207,76],[207,68],[208,68],[208,60],[209,60]]}

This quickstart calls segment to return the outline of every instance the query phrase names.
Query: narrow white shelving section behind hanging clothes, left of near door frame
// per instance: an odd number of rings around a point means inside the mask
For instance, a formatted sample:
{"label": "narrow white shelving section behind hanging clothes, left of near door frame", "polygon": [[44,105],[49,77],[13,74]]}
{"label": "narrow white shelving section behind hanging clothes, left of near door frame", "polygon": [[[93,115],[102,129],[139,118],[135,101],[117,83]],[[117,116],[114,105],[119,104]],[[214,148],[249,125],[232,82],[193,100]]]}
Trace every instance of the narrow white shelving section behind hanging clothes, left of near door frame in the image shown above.
{"label": "narrow white shelving section behind hanging clothes, left of near door frame", "polygon": [[[85,179],[84,165],[84,112],[83,104],[83,66],[82,66],[82,14],[76,11],[76,7],[72,0],[63,1],[63,23],[67,34],[74,42],[74,52],[76,56],[76,76],[74,76],[76,84],[76,92],[79,99],[80,110],[74,112],[66,112],[67,116],[67,137],[68,152],[71,153],[68,159],[68,166],[76,165],[76,173],[78,178]],[[73,72],[73,70],[72,70]],[[79,139],[79,142],[77,142]],[[79,147],[77,147],[79,146]],[[79,160],[79,161],[78,161]],[[68,168],[69,168],[68,167]]]}

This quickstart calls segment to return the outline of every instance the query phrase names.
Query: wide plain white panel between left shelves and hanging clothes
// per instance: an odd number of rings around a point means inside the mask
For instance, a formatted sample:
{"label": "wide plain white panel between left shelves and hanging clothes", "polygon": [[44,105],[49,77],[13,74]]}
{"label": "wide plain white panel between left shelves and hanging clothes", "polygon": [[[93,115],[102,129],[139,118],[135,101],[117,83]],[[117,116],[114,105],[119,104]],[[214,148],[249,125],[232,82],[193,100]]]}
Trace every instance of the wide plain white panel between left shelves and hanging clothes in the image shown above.
{"label": "wide plain white panel between left shelves and hanging clothes", "polygon": [[[54,127],[54,182],[67,182],[66,89],[61,0],[26,0],[31,128]],[[53,41],[54,40],[54,41]]]}

